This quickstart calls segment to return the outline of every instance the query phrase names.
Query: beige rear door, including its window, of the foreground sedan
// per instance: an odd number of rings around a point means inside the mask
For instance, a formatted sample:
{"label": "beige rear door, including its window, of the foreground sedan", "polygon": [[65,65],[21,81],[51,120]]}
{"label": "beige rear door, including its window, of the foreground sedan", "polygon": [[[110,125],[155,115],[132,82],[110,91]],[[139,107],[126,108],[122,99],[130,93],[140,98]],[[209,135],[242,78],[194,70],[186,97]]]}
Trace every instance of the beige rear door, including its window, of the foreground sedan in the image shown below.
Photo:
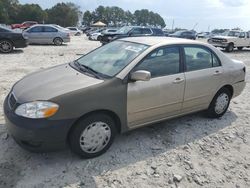
{"label": "beige rear door, including its window, of the foreground sedan", "polygon": [[206,47],[184,46],[183,52],[186,78],[183,112],[205,109],[222,86],[223,68],[215,53]]}

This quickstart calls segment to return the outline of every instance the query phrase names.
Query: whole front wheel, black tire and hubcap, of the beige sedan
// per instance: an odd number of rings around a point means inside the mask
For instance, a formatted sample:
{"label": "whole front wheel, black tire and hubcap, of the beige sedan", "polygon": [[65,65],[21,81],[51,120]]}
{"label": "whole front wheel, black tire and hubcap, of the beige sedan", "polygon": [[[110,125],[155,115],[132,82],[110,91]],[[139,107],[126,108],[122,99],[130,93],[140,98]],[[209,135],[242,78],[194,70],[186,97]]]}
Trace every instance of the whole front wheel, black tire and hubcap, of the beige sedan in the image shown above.
{"label": "whole front wheel, black tire and hubcap, of the beige sedan", "polygon": [[75,124],[69,134],[69,145],[80,157],[94,158],[109,149],[116,134],[115,121],[110,116],[92,114]]}

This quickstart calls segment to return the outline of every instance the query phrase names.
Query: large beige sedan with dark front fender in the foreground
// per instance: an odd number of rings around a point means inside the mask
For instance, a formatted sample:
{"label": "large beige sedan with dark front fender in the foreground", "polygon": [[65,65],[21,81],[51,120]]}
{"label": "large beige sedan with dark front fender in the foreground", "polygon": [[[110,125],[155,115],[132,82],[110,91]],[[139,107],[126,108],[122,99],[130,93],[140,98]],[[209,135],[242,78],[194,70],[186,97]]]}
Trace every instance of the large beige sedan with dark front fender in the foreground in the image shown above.
{"label": "large beige sedan with dark front fender in the foreground", "polygon": [[117,133],[197,111],[221,117],[244,89],[245,75],[242,62],[209,44],[119,39],[14,84],[4,102],[5,125],[28,150],[68,144],[82,157],[96,157]]}

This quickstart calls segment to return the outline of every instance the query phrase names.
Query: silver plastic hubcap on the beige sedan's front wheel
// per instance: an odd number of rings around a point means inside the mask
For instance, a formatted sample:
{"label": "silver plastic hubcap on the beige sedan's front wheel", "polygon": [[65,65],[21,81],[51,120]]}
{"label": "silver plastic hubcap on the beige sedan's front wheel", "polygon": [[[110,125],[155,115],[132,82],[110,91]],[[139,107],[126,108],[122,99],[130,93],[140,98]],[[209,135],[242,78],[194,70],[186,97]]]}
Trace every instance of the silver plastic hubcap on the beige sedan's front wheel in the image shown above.
{"label": "silver plastic hubcap on the beige sedan's front wheel", "polygon": [[80,136],[80,147],[86,153],[96,153],[101,151],[111,137],[110,127],[101,121],[91,123]]}

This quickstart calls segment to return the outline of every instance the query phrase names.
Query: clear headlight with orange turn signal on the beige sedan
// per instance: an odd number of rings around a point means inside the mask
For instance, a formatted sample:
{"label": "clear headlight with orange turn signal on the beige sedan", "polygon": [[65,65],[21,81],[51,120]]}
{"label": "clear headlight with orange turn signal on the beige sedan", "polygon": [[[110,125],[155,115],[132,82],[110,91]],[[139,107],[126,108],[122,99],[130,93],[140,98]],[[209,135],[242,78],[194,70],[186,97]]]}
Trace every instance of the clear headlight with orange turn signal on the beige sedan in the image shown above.
{"label": "clear headlight with orange turn signal on the beige sedan", "polygon": [[29,103],[21,104],[15,110],[15,113],[19,116],[37,119],[37,118],[48,118],[53,116],[59,106],[49,101],[34,101]]}

